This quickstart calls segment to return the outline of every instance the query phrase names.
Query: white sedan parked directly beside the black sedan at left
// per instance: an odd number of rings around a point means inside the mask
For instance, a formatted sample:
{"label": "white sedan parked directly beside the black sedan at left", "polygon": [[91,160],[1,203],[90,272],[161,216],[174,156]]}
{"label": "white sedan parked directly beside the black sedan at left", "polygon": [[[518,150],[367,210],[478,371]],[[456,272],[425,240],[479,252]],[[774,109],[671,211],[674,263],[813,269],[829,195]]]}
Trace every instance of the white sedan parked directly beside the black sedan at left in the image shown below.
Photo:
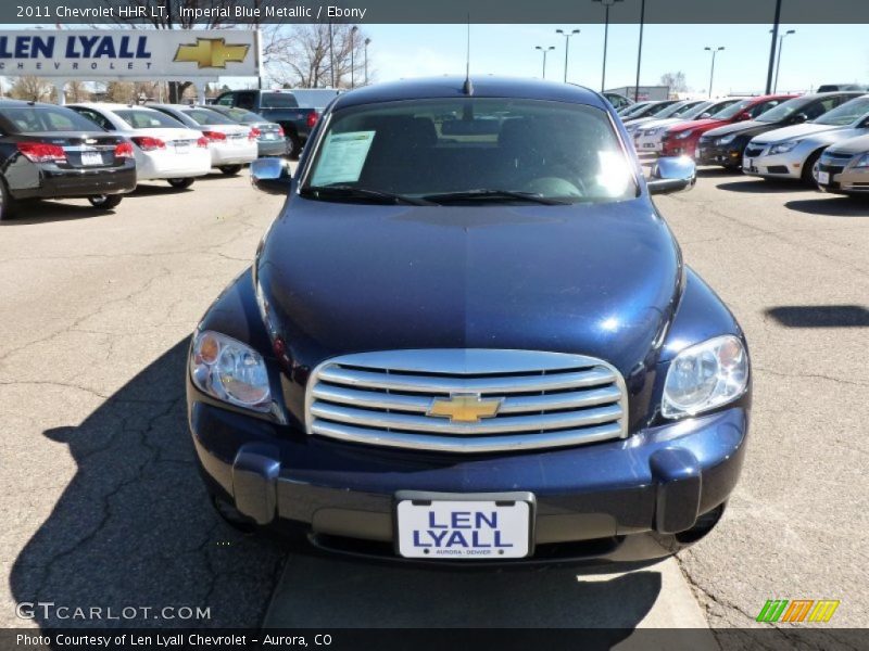
{"label": "white sedan parked directly beside the black sedan at left", "polygon": [[209,139],[165,113],[127,104],[68,104],[103,129],[134,143],[136,180],[165,179],[173,188],[189,188],[211,171]]}

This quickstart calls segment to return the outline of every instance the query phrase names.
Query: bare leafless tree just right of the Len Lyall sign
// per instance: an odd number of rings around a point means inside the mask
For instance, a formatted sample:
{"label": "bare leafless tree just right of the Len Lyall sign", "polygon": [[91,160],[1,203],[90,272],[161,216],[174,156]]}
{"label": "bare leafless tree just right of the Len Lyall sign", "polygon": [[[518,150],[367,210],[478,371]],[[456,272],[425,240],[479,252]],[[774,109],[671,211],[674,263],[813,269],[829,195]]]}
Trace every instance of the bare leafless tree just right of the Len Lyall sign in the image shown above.
{"label": "bare leafless tree just right of the Len Lyall sign", "polygon": [[331,38],[329,25],[324,23],[267,26],[263,30],[263,59],[269,76],[279,85],[329,87],[335,62],[336,88],[350,88],[351,77],[361,86],[364,82],[365,34],[343,24],[331,25]]}

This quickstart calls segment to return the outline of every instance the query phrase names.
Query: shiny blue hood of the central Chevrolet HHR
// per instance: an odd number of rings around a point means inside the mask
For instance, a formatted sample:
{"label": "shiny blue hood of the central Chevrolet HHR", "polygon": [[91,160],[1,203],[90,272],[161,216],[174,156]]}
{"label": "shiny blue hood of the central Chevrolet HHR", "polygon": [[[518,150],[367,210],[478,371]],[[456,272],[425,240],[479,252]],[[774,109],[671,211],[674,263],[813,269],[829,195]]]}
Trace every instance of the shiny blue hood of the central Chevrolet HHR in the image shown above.
{"label": "shiny blue hood of the central Chevrolet HHR", "polygon": [[646,197],[574,206],[383,206],[293,195],[257,254],[285,362],[399,348],[652,361],[681,279]]}

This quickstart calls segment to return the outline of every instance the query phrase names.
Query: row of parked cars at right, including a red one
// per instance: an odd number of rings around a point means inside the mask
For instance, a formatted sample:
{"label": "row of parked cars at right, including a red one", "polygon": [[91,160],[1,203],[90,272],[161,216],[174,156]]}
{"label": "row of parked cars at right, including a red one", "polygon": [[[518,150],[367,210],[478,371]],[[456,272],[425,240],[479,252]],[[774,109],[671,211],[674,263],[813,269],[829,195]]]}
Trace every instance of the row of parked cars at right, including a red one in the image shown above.
{"label": "row of parked cars at right, including a red one", "polygon": [[[687,155],[698,165],[793,179],[844,194],[869,192],[869,94],[840,90],[805,95],[729,98],[696,104],[647,102],[622,113],[640,153]],[[673,110],[676,106],[676,110]],[[634,117],[658,107],[672,118]],[[713,112],[718,108],[717,112]]]}

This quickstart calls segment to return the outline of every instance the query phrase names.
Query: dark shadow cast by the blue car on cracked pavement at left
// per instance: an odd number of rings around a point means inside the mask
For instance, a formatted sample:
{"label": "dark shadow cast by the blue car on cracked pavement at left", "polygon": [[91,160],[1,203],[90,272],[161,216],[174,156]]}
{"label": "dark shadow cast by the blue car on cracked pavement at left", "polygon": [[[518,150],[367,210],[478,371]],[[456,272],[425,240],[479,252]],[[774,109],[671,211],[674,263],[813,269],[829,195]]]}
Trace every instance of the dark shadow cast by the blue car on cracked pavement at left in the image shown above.
{"label": "dark shadow cast by the blue car on cracked pavement at left", "polygon": [[[54,604],[36,608],[41,627],[260,625],[285,554],[226,528],[207,502],[186,423],[187,346],[80,424],[45,433],[78,469],[11,572],[16,602]],[[181,607],[209,617],[180,618]],[[75,617],[76,608],[100,617]]]}

